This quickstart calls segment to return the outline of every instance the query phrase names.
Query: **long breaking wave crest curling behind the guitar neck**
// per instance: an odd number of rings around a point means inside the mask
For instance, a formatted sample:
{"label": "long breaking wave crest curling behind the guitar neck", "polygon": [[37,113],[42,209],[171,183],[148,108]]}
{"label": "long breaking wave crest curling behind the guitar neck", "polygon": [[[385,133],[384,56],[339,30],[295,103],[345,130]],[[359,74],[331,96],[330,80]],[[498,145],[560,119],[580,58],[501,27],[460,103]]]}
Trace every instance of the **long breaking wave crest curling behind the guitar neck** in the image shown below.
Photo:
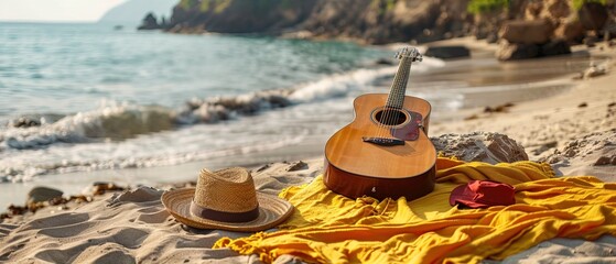
{"label": "long breaking wave crest curling behind the guitar neck", "polygon": [[[442,61],[429,58],[426,63],[428,67],[434,67],[440,66]],[[425,68],[419,66],[414,70]],[[393,76],[396,70],[396,66],[363,68],[287,89],[229,97],[193,98],[179,109],[104,101],[96,110],[76,114],[53,118],[50,114],[20,117],[10,120],[4,129],[0,129],[0,151],[42,148],[54,143],[117,141],[182,125],[217,123],[249,117],[260,111],[346,96],[376,79]]]}

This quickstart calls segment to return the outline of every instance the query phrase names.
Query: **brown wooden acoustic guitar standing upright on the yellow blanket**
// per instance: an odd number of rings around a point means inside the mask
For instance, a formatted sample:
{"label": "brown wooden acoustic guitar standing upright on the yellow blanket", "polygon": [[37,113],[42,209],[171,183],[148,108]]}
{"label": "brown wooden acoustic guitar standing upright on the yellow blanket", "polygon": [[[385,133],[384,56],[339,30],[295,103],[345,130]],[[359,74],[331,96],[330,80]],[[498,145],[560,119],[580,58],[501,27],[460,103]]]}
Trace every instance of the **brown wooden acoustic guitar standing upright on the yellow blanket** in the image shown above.
{"label": "brown wooden acoustic guitar standing upright on the yellow blanket", "polygon": [[324,183],[337,194],[413,200],[434,189],[436,151],[426,135],[431,106],[406,96],[411,64],[422,56],[404,47],[397,58],[390,92],[357,97],[354,121],[325,145]]}

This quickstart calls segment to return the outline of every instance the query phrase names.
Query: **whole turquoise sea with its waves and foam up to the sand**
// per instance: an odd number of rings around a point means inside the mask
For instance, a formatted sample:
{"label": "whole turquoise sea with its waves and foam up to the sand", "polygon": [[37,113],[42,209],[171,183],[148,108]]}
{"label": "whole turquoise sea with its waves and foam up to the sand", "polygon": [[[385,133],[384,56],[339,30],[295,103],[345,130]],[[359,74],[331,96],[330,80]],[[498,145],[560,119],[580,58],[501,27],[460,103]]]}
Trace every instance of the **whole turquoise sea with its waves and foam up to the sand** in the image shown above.
{"label": "whole turquoise sea with its waves and foam up to the sand", "polygon": [[[389,91],[393,55],[333,41],[0,23],[0,183],[324,146],[353,120],[354,98]],[[472,106],[469,87],[538,86],[508,84],[495,65],[425,57],[407,94],[429,100],[434,121]]]}

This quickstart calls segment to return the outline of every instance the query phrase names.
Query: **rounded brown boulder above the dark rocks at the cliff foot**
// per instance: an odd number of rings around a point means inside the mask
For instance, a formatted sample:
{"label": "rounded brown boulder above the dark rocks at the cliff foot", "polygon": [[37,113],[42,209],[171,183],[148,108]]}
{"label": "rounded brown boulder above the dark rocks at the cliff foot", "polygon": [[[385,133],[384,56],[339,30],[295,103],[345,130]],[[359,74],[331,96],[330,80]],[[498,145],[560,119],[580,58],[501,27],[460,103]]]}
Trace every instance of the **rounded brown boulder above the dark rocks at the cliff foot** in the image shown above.
{"label": "rounded brown boulder above the dark rocks at the cliff foot", "polygon": [[505,22],[498,35],[509,43],[543,44],[552,33],[553,26],[549,20],[515,20]]}

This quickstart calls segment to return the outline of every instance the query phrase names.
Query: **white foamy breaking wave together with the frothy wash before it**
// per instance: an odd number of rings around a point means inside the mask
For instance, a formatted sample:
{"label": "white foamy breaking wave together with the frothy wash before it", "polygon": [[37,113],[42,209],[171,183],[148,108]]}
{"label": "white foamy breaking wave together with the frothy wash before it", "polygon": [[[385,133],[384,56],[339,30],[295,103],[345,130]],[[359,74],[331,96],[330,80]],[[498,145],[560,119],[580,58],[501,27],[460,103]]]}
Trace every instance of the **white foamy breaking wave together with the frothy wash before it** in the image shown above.
{"label": "white foamy breaking wave together with the frothy wash before it", "polygon": [[[439,59],[425,62],[413,70],[442,65]],[[326,138],[352,117],[352,103],[344,98],[374,91],[375,80],[389,79],[396,70],[364,68],[288,89],[194,98],[176,109],[102,101],[87,112],[51,119],[41,114],[34,123],[25,122],[31,127],[0,129],[0,180],[175,165],[275,150],[305,136]],[[336,102],[339,98],[344,101]]]}

